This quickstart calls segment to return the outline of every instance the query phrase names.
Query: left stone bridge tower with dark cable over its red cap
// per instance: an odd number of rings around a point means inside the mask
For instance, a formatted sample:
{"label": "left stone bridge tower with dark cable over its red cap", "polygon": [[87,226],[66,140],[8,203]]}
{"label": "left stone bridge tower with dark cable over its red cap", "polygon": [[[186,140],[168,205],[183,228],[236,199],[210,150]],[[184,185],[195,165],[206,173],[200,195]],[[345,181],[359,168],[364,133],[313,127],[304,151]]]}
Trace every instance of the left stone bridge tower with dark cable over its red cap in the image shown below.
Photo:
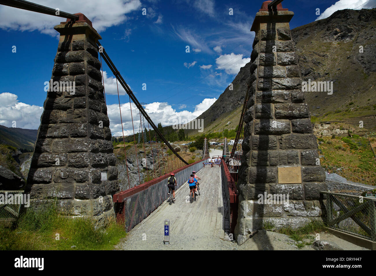
{"label": "left stone bridge tower with dark cable over its red cap", "polygon": [[[101,219],[112,212],[118,170],[98,60],[101,37],[77,15],[78,21],[55,26],[60,39],[51,79],[59,87],[47,92],[27,189],[36,208],[57,199],[70,215]],[[62,81],[74,90],[63,89]]]}

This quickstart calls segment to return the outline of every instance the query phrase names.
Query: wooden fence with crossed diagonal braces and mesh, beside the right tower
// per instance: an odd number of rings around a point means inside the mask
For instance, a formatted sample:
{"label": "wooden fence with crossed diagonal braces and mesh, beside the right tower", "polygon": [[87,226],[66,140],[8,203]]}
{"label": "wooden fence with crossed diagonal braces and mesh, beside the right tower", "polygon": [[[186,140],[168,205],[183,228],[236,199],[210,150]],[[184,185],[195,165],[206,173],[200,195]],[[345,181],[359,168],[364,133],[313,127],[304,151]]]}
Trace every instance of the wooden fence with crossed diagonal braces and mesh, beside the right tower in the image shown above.
{"label": "wooden fence with crossed diagonal braces and mesh, beside the right tower", "polygon": [[320,193],[326,195],[326,223],[329,228],[376,241],[375,198]]}

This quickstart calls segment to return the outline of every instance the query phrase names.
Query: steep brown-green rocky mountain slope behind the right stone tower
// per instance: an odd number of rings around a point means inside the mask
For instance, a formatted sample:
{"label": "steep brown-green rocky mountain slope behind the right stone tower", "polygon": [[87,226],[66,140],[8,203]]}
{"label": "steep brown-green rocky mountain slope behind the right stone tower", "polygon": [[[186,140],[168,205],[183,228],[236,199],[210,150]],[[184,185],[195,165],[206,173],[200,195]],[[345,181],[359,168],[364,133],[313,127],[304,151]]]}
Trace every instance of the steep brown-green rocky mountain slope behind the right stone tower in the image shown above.
{"label": "steep brown-green rocky mountain slope behind the right stone tower", "polygon": [[[302,77],[315,81],[333,81],[332,95],[306,92],[312,121],[323,125],[327,133],[343,128],[354,131],[376,130],[376,9],[337,11],[330,17],[291,30],[296,43]],[[359,53],[362,46],[363,53]],[[233,80],[234,90],[224,90],[217,101],[200,115],[204,132],[236,128],[247,89],[249,66],[240,69]],[[364,128],[359,130],[359,121]],[[343,126],[342,126],[342,125]],[[341,127],[342,126],[342,127]],[[347,132],[344,130],[343,132]],[[197,135],[190,131],[189,135]]]}

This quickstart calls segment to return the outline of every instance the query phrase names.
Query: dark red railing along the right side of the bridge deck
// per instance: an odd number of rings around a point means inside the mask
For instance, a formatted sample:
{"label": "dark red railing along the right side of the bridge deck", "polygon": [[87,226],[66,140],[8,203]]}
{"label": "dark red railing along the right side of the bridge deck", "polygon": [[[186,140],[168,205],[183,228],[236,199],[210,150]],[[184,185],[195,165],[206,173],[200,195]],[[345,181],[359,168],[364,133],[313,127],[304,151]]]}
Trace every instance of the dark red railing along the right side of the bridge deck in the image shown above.
{"label": "dark red railing along the right side of the bridge deck", "polygon": [[239,196],[235,181],[232,178],[227,164],[222,159],[221,179],[224,207],[224,231],[234,234],[238,219]]}

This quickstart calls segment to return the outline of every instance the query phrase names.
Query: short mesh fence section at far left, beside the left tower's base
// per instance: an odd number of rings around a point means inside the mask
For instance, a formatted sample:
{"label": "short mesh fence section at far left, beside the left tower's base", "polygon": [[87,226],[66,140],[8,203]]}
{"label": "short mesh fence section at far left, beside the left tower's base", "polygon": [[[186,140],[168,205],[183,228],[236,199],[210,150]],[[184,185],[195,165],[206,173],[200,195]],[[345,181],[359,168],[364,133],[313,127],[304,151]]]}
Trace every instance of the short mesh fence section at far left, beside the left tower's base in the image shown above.
{"label": "short mesh fence section at far left, beside the left tower's base", "polygon": [[0,220],[17,220],[24,202],[24,191],[0,191]]}

